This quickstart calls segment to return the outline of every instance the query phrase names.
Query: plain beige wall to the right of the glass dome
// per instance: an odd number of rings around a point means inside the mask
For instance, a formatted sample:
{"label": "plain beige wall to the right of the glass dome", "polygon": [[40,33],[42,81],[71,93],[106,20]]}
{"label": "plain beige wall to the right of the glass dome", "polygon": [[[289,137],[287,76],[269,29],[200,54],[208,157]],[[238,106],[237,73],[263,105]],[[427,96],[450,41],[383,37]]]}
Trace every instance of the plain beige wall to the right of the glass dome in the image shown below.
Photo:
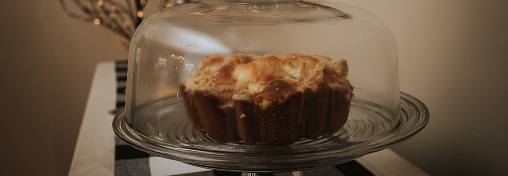
{"label": "plain beige wall to the right of the glass dome", "polygon": [[430,110],[392,149],[432,175],[508,174],[508,1],[337,1],[387,22],[401,91]]}

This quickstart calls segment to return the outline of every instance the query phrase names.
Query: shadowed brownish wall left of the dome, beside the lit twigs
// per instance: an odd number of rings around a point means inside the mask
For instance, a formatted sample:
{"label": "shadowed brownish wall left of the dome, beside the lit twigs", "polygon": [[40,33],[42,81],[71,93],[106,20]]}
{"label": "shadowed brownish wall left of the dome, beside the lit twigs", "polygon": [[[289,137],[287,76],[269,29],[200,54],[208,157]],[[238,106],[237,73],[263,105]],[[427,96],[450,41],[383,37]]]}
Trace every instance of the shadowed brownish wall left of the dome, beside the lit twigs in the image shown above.
{"label": "shadowed brownish wall left of the dome, beside the lit twigs", "polygon": [[0,174],[67,175],[94,66],[126,59],[119,39],[56,0],[2,2]]}

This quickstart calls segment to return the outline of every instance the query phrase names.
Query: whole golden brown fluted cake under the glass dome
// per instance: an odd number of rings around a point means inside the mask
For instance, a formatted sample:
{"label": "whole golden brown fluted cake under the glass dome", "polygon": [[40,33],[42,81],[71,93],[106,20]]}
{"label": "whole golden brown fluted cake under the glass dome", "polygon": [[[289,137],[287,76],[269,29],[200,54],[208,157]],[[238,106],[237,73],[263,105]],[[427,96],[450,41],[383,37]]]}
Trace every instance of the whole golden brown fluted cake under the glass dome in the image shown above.
{"label": "whole golden brown fluted cake under the glass dome", "polygon": [[210,55],[180,92],[194,127],[218,142],[287,145],[345,124],[347,72],[346,60],[319,55]]}

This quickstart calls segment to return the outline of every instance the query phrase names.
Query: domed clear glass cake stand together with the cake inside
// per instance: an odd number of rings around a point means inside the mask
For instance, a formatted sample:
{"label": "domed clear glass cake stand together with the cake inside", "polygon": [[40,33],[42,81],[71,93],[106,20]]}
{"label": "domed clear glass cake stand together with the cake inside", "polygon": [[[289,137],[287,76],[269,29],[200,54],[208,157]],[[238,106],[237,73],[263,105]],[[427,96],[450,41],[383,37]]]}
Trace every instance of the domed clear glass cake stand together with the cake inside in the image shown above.
{"label": "domed clear glass cake stand together with the cake inside", "polygon": [[428,122],[425,105],[399,90],[386,23],[330,1],[204,0],[156,11],[131,40],[127,83],[113,122],[120,138],[217,170],[337,164]]}

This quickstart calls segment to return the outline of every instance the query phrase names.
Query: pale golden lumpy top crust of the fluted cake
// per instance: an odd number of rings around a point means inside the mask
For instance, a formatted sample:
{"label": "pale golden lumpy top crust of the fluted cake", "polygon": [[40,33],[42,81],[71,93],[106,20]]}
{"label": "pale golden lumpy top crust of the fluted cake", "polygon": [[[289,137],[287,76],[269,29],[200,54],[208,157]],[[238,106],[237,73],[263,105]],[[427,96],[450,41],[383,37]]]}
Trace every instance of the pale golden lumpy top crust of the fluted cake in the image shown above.
{"label": "pale golden lumpy top crust of the fluted cake", "polygon": [[[320,55],[285,54],[264,56],[234,54],[222,57],[206,56],[188,80],[182,82],[189,91],[208,90],[228,104],[233,99],[252,101],[262,92],[268,82],[284,80],[293,89],[303,91],[316,82],[326,81],[330,87],[349,87],[346,60],[333,60]],[[275,87],[275,91],[283,91]],[[264,104],[261,102],[260,104]]]}

